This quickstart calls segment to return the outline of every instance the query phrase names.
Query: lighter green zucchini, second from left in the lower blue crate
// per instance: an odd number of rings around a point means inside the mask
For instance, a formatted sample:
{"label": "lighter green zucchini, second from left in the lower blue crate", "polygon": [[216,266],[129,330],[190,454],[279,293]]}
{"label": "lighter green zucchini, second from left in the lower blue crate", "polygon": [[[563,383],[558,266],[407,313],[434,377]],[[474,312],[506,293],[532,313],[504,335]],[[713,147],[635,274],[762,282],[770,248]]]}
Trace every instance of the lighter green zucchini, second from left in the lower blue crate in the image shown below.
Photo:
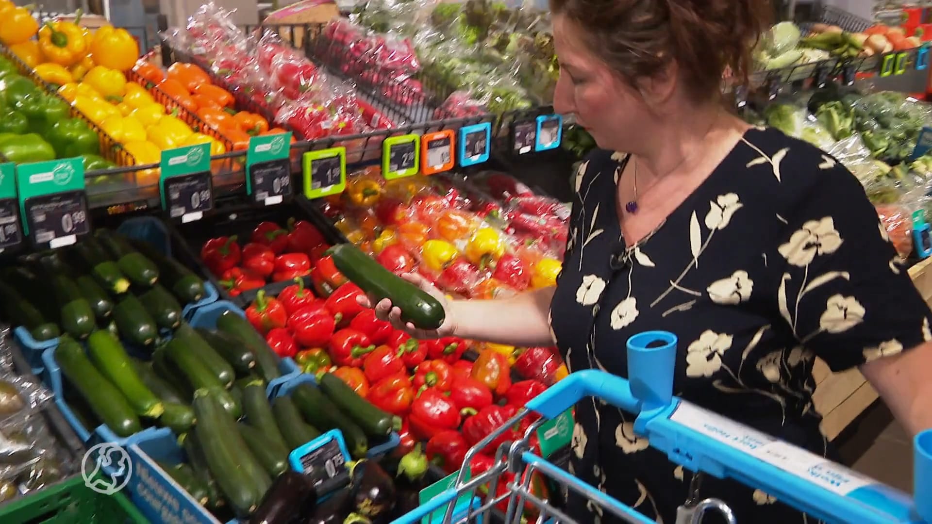
{"label": "lighter green zucchini, second from left in the lower blue crate", "polygon": [[130,363],[130,356],[113,333],[105,329],[91,333],[88,338],[88,352],[94,365],[106,379],[117,386],[138,415],[157,419],[162,414],[162,401],[136,374]]}

